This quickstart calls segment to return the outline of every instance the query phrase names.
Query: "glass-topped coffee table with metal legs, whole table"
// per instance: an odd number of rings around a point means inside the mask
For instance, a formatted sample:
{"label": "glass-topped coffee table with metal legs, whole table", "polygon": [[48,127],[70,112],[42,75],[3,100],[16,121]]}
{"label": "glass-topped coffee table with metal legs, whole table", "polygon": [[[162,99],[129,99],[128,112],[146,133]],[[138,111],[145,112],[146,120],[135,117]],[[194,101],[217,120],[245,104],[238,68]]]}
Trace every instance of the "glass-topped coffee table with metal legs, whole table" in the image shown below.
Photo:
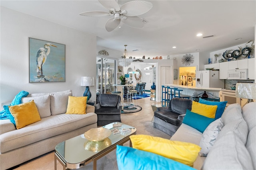
{"label": "glass-topped coffee table with metal legs, whole table", "polygon": [[[119,123],[119,122],[118,122]],[[54,155],[54,170],[56,170],[57,160],[62,164],[63,170],[78,169],[90,162],[93,162],[93,169],[96,170],[97,160],[102,158],[112,150],[116,145],[123,145],[130,141],[130,135],[136,134],[136,128],[120,123],[121,127],[113,127],[113,124],[103,126],[107,129],[118,129],[120,133],[111,135],[104,141],[93,142],[85,139],[84,134],[73,137],[56,145]],[[122,132],[122,128],[130,129],[130,132]],[[130,147],[132,143],[130,141]]]}

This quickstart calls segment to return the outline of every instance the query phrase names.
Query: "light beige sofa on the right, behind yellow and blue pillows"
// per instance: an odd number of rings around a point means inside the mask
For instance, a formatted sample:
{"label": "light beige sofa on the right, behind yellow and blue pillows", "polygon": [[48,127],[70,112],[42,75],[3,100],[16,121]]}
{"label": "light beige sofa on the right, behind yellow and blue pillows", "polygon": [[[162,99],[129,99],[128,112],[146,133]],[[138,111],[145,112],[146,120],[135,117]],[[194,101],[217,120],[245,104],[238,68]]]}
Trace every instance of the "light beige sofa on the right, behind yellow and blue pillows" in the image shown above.
{"label": "light beige sofa on the right, behind yellow and blue pillows", "polygon": [[[198,156],[194,168],[200,170],[255,170],[256,169],[256,102],[241,109],[238,104],[228,106],[221,119],[224,127],[208,155]],[[200,145],[202,133],[182,124],[171,137]]]}

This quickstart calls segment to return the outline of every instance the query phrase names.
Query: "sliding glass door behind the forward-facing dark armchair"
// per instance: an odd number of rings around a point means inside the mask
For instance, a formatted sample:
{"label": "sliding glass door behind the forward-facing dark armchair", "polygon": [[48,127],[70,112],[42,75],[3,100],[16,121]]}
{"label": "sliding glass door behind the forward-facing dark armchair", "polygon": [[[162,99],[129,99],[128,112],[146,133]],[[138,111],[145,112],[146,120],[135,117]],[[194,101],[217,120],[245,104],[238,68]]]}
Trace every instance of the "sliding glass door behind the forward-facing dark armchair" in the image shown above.
{"label": "sliding glass door behind the forward-facing dark armchair", "polygon": [[96,94],[111,94],[116,79],[116,61],[97,57],[96,64]]}

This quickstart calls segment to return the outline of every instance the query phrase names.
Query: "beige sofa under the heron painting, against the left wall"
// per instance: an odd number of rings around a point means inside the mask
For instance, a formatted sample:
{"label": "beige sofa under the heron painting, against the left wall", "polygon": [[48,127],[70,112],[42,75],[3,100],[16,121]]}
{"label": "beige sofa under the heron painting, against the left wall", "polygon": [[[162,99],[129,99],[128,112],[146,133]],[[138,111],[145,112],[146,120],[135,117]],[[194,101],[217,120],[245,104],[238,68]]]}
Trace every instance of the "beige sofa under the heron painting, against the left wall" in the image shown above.
{"label": "beige sofa under the heron painting, against the left wall", "polygon": [[67,139],[97,127],[94,106],[86,114],[65,114],[72,91],[29,94],[22,103],[34,100],[41,120],[16,129],[10,119],[0,120],[0,170],[11,168],[55,149]]}

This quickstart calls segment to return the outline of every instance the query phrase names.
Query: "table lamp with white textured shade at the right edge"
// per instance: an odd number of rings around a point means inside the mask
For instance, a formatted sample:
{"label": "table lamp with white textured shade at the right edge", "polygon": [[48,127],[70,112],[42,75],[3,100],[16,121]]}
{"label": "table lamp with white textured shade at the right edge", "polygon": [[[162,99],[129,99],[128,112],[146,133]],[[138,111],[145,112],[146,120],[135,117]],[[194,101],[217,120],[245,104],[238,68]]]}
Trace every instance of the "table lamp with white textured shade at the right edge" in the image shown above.
{"label": "table lamp with white textured shade at the right edge", "polygon": [[253,99],[256,99],[256,84],[255,83],[236,83],[236,97],[248,99],[246,104],[253,102]]}

